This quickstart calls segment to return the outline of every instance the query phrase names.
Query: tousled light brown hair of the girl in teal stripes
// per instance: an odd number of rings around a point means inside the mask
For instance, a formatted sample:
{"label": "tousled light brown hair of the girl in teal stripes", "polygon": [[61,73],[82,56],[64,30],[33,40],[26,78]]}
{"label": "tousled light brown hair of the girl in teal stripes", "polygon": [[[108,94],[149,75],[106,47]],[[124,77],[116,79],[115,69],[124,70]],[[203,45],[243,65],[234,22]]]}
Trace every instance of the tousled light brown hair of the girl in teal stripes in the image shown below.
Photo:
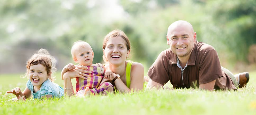
{"label": "tousled light brown hair of the girl in teal stripes", "polygon": [[26,63],[27,70],[24,77],[28,76],[30,66],[42,64],[46,68],[48,79],[54,81],[55,77],[52,77],[51,73],[53,74],[57,71],[56,62],[56,59],[51,56],[46,49],[39,49],[28,59],[28,62]]}

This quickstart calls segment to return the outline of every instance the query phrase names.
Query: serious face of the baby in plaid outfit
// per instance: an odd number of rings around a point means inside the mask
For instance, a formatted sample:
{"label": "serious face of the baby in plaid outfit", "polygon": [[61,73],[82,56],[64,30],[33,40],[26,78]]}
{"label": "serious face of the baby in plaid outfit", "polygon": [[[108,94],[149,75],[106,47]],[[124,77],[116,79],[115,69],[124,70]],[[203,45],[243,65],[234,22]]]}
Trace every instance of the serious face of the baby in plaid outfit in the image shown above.
{"label": "serious face of the baby in plaid outfit", "polygon": [[74,61],[83,66],[91,66],[93,61],[92,48],[89,46],[78,48],[78,50],[75,51]]}

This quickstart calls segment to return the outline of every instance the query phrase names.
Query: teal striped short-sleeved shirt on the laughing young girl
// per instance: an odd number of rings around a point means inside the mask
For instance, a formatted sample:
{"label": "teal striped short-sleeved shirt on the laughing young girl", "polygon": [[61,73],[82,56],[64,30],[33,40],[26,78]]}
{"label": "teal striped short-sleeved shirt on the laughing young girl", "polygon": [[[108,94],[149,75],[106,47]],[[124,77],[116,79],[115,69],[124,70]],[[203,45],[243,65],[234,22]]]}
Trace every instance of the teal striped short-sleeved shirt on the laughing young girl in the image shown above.
{"label": "teal striped short-sleeved shirt on the laughing young girl", "polygon": [[31,91],[32,96],[34,99],[40,99],[46,95],[52,95],[53,98],[60,98],[64,96],[64,89],[60,87],[58,84],[53,83],[50,79],[47,79],[43,82],[39,91],[34,93],[34,86],[30,80],[27,82],[27,87]]}

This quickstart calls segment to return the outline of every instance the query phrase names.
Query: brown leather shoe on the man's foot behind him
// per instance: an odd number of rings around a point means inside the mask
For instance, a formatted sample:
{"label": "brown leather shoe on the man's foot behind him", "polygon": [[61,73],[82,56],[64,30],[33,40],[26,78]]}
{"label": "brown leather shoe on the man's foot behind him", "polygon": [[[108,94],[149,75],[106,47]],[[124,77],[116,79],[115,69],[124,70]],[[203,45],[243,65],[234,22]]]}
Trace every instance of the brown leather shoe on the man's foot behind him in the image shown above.
{"label": "brown leather shoe on the man's foot behind him", "polygon": [[249,81],[249,73],[248,72],[235,74],[235,77],[239,78],[239,85],[238,85],[239,88],[242,88],[242,87],[246,86],[246,84]]}

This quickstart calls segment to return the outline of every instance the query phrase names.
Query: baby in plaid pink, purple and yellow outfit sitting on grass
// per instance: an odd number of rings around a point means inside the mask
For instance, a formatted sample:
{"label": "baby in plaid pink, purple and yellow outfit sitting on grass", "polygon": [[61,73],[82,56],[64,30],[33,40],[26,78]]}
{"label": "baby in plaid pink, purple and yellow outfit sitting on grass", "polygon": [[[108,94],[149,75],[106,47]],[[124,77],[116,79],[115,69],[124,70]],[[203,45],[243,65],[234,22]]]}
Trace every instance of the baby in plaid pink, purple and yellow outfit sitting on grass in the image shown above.
{"label": "baby in plaid pink, purple and yellow outfit sitting on grass", "polygon": [[[105,71],[105,67],[102,66],[100,63],[93,64],[93,56],[94,53],[92,51],[92,48],[90,44],[84,41],[77,41],[73,43],[73,46],[71,48],[71,54],[73,57],[73,60],[76,63],[79,63],[78,65],[74,65],[72,63],[69,63],[66,65],[61,72],[61,76],[63,79],[63,74],[67,71],[73,71],[76,67],[82,67],[85,66],[87,71],[91,71],[90,74],[88,74],[90,77],[87,77],[87,79],[84,79],[83,76],[86,76],[86,74],[79,72],[79,75],[76,77],[77,83],[76,83],[76,96],[77,97],[84,97],[89,94],[106,94],[107,92],[113,92],[113,85],[107,81],[108,74],[113,74],[111,71]],[[106,78],[104,79],[104,75]],[[102,82],[102,84],[100,84]],[[103,83],[104,82],[104,83]],[[70,84],[70,83],[68,83]],[[71,86],[65,82],[64,79],[64,89],[65,93],[70,94],[73,93],[73,86]],[[106,92],[107,91],[107,92]]]}

